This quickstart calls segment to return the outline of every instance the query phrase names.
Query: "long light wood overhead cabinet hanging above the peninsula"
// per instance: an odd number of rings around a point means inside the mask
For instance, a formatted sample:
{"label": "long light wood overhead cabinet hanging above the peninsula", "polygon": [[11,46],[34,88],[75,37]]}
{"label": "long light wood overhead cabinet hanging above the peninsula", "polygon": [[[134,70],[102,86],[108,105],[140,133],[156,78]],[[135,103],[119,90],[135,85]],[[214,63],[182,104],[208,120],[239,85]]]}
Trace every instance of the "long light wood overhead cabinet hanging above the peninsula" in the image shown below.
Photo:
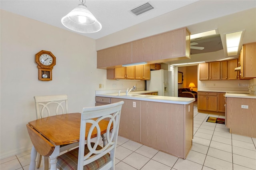
{"label": "long light wood overhead cabinet hanging above the peninsula", "polygon": [[190,59],[190,32],[180,28],[97,51],[97,68]]}

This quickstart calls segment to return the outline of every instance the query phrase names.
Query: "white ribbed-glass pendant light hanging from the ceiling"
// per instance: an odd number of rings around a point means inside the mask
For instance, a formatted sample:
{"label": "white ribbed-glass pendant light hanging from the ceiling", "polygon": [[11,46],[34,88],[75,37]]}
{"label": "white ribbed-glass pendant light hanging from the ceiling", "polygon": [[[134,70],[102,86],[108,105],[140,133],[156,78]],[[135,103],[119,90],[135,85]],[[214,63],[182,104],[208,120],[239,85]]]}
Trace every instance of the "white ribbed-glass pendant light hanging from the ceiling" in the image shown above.
{"label": "white ribbed-glass pendant light hanging from the ceiling", "polygon": [[88,10],[85,0],[80,0],[80,2],[81,4],[61,19],[61,23],[75,32],[94,33],[100,31],[102,26]]}

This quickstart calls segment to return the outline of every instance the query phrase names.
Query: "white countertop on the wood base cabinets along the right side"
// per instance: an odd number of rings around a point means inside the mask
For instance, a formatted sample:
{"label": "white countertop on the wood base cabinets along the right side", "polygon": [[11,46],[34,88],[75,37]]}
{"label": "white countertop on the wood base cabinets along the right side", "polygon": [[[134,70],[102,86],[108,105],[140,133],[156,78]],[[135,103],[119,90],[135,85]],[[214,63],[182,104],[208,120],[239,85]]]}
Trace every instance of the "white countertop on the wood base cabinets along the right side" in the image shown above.
{"label": "white countertop on the wood base cabinets along the right side", "polygon": [[198,90],[202,92],[222,92],[226,93],[225,97],[250,98],[256,99],[256,95],[250,94],[249,91],[231,91],[231,90]]}

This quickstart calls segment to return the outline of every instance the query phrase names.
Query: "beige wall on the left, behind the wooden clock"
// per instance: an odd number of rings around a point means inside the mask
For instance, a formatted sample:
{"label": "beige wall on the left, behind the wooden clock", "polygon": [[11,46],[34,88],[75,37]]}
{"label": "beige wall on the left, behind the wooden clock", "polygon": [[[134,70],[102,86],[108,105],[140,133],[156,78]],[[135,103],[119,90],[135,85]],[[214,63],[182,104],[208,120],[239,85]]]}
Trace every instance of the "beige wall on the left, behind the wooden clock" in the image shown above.
{"label": "beige wall on the left, behind the wooden clock", "polygon": [[[74,113],[94,106],[95,90],[127,89],[134,83],[145,87],[144,81],[106,80],[106,70],[96,69],[95,40],[0,12],[0,159],[31,148],[26,124],[36,119],[35,95],[67,94],[69,112]],[[52,81],[38,80],[35,54],[41,50],[56,56]]]}

